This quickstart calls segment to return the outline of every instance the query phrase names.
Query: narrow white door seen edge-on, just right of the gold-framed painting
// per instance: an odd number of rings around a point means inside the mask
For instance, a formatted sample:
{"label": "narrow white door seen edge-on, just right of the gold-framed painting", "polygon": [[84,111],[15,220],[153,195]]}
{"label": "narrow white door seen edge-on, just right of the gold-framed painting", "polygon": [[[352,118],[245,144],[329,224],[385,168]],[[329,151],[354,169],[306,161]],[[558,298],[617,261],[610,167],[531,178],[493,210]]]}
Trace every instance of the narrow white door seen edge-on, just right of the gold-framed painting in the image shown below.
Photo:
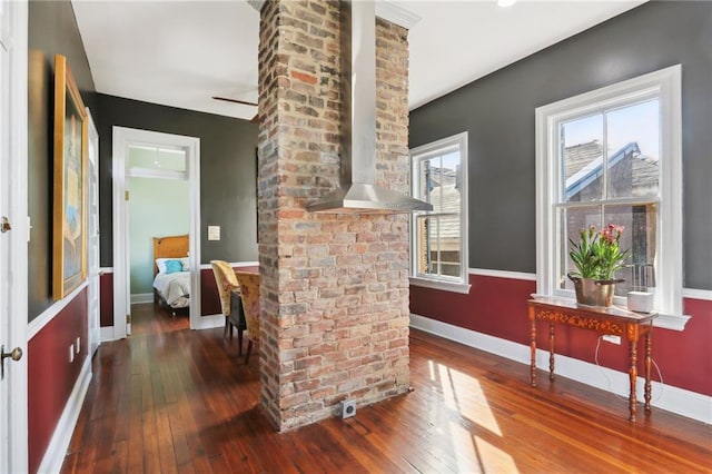
{"label": "narrow white door seen edge-on, just right of the gold-framed painting", "polygon": [[91,357],[101,340],[99,324],[99,134],[89,109],[87,109],[87,115],[89,117],[89,196],[87,199],[89,206],[87,213],[89,287],[87,296],[89,299],[89,357]]}

